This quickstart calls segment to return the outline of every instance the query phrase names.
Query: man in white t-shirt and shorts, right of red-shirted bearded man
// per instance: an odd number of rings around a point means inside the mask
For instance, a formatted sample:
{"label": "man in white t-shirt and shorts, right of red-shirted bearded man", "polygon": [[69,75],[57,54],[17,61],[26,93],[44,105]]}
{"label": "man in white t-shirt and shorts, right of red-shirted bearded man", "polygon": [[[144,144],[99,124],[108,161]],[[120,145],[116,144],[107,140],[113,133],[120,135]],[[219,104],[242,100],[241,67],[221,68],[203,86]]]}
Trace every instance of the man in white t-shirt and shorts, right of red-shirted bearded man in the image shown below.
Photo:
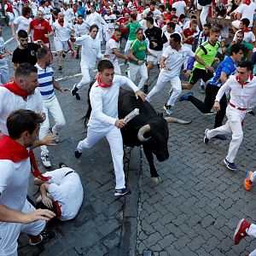
{"label": "man in white t-shirt and shorts, right of red-shirted bearded man", "polygon": [[58,54],[58,65],[59,71],[62,70],[61,61],[62,57],[65,58],[65,54],[68,50],[67,41],[70,38],[71,33],[73,33],[73,26],[71,23],[68,23],[64,20],[63,13],[58,14],[58,20],[55,20],[55,23],[52,25],[52,28],[55,32],[55,49]]}

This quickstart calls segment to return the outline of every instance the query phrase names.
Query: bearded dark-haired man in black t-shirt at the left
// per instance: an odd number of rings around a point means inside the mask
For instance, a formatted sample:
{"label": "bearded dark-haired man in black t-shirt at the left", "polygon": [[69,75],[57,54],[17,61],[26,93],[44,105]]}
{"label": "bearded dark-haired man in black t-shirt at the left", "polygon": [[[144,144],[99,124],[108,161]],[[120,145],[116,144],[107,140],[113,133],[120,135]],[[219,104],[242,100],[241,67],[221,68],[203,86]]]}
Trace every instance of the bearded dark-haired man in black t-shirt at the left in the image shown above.
{"label": "bearded dark-haired man in black t-shirt at the left", "polygon": [[28,43],[28,35],[25,30],[18,32],[18,40],[20,45],[15,49],[12,61],[14,62],[14,69],[20,63],[30,63],[35,65],[37,63],[37,51],[40,48],[38,44]]}

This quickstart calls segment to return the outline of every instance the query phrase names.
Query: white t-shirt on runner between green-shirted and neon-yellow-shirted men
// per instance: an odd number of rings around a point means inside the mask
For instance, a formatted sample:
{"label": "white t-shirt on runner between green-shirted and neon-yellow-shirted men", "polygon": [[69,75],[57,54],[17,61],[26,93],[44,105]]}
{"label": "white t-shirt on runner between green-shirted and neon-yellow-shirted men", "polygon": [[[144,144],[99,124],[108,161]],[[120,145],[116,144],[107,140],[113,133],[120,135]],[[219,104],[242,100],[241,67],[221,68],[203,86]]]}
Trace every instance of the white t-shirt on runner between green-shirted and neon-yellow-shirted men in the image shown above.
{"label": "white t-shirt on runner between green-shirted and neon-yellow-shirted men", "polygon": [[186,57],[194,57],[195,53],[182,45],[181,49],[178,51],[176,49],[172,49],[169,45],[163,52],[162,57],[166,57],[166,67],[170,70],[166,71],[164,69],[161,72],[164,72],[166,75],[173,77],[179,76],[180,69],[183,66],[183,61]]}

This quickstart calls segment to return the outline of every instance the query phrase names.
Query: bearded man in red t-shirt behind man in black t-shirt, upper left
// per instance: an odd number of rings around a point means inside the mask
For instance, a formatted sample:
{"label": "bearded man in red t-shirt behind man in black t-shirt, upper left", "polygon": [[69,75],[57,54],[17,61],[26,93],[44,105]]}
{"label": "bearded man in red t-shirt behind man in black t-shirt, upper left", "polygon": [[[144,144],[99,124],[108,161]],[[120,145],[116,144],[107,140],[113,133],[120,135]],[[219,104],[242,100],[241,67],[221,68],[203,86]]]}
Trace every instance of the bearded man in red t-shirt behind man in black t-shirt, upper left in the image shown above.
{"label": "bearded man in red t-shirt behind man in black t-shirt, upper left", "polygon": [[29,35],[34,30],[33,40],[35,43],[43,42],[49,47],[49,37],[54,34],[49,22],[44,20],[42,11],[38,11],[37,19],[30,22],[27,34]]}

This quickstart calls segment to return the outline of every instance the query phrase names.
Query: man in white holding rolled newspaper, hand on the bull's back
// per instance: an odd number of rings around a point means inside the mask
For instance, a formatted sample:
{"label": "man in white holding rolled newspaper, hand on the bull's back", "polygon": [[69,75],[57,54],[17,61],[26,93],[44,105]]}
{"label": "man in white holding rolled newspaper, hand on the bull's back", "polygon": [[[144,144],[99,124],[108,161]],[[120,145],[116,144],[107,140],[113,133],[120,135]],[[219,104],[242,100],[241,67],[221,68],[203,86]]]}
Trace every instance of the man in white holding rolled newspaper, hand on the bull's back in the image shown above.
{"label": "man in white holding rolled newspaper, hand on the bull's back", "polygon": [[124,76],[115,75],[113,63],[102,60],[98,64],[98,76],[90,90],[91,113],[88,122],[87,137],[79,142],[75,157],[79,159],[82,151],[92,148],[102,137],[106,137],[110,146],[113,169],[115,174],[114,195],[130,194],[125,188],[125,173],[123,163],[123,139],[120,129],[126,125],[124,119],[118,118],[119,87],[126,85],[135,95],[145,101],[146,95],[142,90]]}

